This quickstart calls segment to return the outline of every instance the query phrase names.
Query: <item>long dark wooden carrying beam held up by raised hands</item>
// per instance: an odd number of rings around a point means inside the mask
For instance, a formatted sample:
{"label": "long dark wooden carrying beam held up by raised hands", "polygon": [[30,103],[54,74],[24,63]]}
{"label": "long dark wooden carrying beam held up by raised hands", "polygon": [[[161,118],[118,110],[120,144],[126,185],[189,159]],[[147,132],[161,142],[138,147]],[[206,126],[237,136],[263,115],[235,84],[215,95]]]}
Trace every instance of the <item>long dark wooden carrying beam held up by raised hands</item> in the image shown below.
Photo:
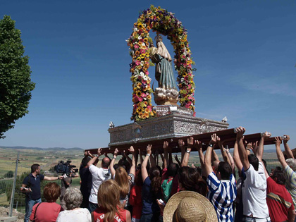
{"label": "long dark wooden carrying beam held up by raised hands", "polygon": [[[162,148],[162,145],[164,144],[164,141],[168,141],[168,146],[171,147],[173,153],[181,152],[180,148],[178,147],[178,140],[183,140],[185,142],[185,146],[187,146],[187,139],[189,137],[193,137],[195,140],[199,140],[203,143],[202,149],[206,150],[207,145],[209,144],[211,140],[211,135],[216,133],[218,137],[221,138],[221,141],[223,142],[224,147],[228,145],[229,148],[233,148],[236,140],[236,133],[235,129],[228,129],[228,130],[221,130],[216,132],[207,132],[203,134],[197,134],[197,135],[190,135],[186,137],[173,137],[173,138],[166,138],[161,140],[152,140],[152,141],[145,141],[145,142],[135,142],[130,144],[124,144],[124,145],[118,145],[118,146],[112,146],[112,147],[105,147],[102,148],[102,154],[110,154],[113,153],[116,148],[118,148],[119,152],[123,152],[123,149],[128,149],[130,146],[134,147],[135,149],[140,150],[146,150],[146,147],[148,144],[152,144],[152,152],[154,150],[158,150],[159,154],[163,153],[164,150]],[[247,142],[256,142],[261,139],[261,133],[255,133],[255,134],[249,134],[244,135]],[[264,140],[264,145],[269,144],[275,144],[275,137],[269,137],[266,140]],[[215,149],[219,149],[216,147]],[[97,154],[97,149],[87,149],[87,151],[90,151],[91,154]],[[197,151],[197,149],[192,149],[192,151]]]}

